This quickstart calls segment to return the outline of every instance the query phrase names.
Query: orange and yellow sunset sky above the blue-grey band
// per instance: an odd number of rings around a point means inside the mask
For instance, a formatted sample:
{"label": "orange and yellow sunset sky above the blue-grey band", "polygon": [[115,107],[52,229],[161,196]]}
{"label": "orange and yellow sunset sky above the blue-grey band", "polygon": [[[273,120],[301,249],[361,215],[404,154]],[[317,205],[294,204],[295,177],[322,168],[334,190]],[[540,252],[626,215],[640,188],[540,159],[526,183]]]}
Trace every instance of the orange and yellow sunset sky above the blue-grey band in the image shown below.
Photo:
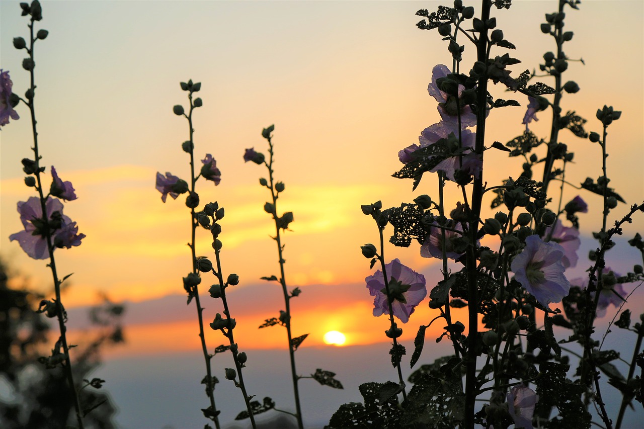
{"label": "orange and yellow sunset sky above the blue-grey band", "polygon": [[[437,199],[433,175],[423,179],[416,193],[410,181],[391,175],[402,166],[397,152],[439,120],[427,85],[433,66],[450,64],[451,57],[437,33],[415,27],[420,18],[414,14],[441,3],[42,3],[38,28],[49,30],[49,36],[35,48],[41,162],[47,173],[53,165],[63,180],[73,183],[79,198],[65,204],[64,213],[87,235],[81,247],[56,251],[61,276],[74,273],[63,301],[69,309],[83,307],[99,301],[104,292],[113,301],[129,303],[126,335],[135,341],[114,356],[193,350],[197,344],[194,307],[185,306],[181,280],[191,266],[185,245],[189,210],[184,196],[163,204],[155,190],[157,171],[189,178],[189,158],[180,146],[188,138],[187,121],[172,111],[175,104],[187,104],[179,82],[188,79],[202,82],[198,96],[204,100],[193,115],[195,156],[211,153],[222,171],[219,186],[200,180],[197,191],[202,204],[218,201],[225,207],[222,263],[225,276],[236,272],[241,278],[231,294],[233,316],[240,315],[240,343],[246,341],[249,348],[283,343],[278,327],[261,335],[256,331],[263,319],[278,315],[283,303],[274,283],[258,280],[279,272],[269,238],[272,220],[262,208],[269,194],[258,184],[266,172],[242,158],[245,148],[266,151],[261,129],[270,124],[275,124],[276,178],[286,185],[278,211],[293,211],[295,218],[284,242],[287,282],[303,289],[294,303],[296,332],[311,333],[304,346],[323,344],[328,330],[345,332],[347,345],[386,339],[386,320],[371,316],[373,301],[364,279],[372,271],[359,251],[360,245],[377,242],[377,229],[360,205],[382,200],[391,207],[420,193]],[[497,27],[517,47],[511,55],[522,60],[511,68],[516,76],[538,69],[542,54],[555,49],[539,24],[557,2],[513,3],[509,11],[493,13]],[[475,9],[478,13],[478,2]],[[629,204],[644,196],[643,19],[641,1],[589,0],[578,11],[568,10],[565,21],[574,32],[565,52],[571,59],[583,58],[585,65],[570,62],[565,77],[581,91],[564,96],[564,111],[575,110],[588,119],[587,131],[601,131],[595,111],[604,104],[623,111],[609,129],[607,162],[611,186]],[[12,39],[27,37],[26,24],[18,1],[0,2],[0,66],[10,71],[20,95],[28,73],[21,68],[24,51],[15,50]],[[465,67],[473,53],[466,43]],[[547,77],[543,81],[551,83]],[[526,97],[504,94],[498,86],[491,92],[527,105]],[[17,111],[21,119],[3,127],[0,135],[0,256],[28,276],[34,289],[47,291],[52,280],[45,263],[30,260],[16,242],[8,241],[22,229],[17,202],[33,195],[23,184],[20,164],[21,158],[32,157],[31,124],[24,105]],[[493,111],[487,146],[522,133],[524,113],[525,107]],[[546,137],[549,114],[537,116],[531,129]],[[567,131],[561,138],[576,153],[567,180],[578,184],[601,174],[599,146]],[[492,151],[486,157],[493,160],[486,160],[484,171],[491,185],[521,171],[518,159],[507,162],[504,154]],[[453,207],[460,191],[448,186],[446,192]],[[581,220],[582,234],[590,236],[600,222],[601,199],[567,188],[564,200],[578,194],[591,207],[592,213]],[[614,218],[626,210],[620,204]],[[625,237],[643,232],[642,222],[639,216],[635,225],[627,225]],[[199,233],[197,253],[213,256],[211,237],[207,231]],[[593,245],[591,240],[584,243],[586,249]],[[428,287],[440,278],[440,265],[421,258],[417,244],[410,249],[388,245],[385,257],[401,258],[424,274]],[[633,262],[619,259],[611,264],[624,271],[632,267]],[[578,272],[587,265],[582,259]],[[203,292],[214,282],[214,276],[204,277]],[[204,299],[205,318],[212,319],[220,304]],[[132,314],[134,309],[139,312]],[[83,311],[72,313],[78,319],[70,318],[71,325],[82,326]],[[421,303],[404,338],[413,338],[418,325],[433,316],[426,301]],[[209,346],[222,339],[213,335]]]}

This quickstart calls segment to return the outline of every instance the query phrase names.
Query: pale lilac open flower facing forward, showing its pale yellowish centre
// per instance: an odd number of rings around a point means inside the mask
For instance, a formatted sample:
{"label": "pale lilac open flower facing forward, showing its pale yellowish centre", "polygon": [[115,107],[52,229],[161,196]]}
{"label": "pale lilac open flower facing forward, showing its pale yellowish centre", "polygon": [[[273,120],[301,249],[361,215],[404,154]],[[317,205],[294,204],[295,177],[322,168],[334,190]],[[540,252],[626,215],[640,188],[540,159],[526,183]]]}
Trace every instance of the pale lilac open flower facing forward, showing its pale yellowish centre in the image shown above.
{"label": "pale lilac open flower facing forward, showing its pale yellowish centre", "polygon": [[564,255],[561,245],[546,243],[535,234],[526,238],[526,247],[510,265],[515,280],[545,307],[560,302],[570,291],[571,285],[564,276]]}

